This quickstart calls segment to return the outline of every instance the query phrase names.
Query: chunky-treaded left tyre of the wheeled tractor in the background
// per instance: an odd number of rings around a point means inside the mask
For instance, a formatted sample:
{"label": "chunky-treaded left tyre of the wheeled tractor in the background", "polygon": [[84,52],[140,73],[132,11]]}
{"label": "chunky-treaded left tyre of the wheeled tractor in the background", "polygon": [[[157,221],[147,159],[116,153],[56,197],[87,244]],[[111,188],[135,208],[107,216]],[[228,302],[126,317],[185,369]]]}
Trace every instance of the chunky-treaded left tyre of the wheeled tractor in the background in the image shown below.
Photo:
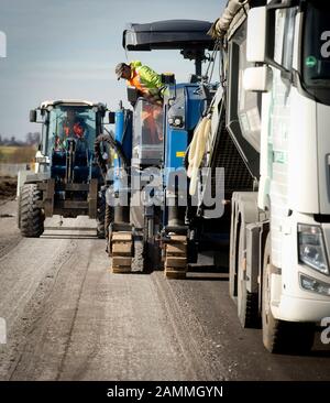
{"label": "chunky-treaded left tyre of the wheeled tractor in the background", "polygon": [[44,216],[36,202],[42,199],[42,192],[35,184],[23,185],[19,198],[20,229],[25,238],[38,238],[44,232]]}

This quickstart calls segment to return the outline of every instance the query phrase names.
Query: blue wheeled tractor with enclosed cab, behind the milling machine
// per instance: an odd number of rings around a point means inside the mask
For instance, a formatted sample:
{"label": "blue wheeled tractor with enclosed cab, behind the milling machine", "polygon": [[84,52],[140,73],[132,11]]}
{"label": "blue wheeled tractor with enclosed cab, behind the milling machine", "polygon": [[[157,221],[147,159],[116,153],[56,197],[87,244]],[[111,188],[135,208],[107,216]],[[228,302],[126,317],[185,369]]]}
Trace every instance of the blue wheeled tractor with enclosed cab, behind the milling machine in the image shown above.
{"label": "blue wheeled tractor with enclosed cab, behind the milling machine", "polygon": [[103,104],[78,100],[45,101],[31,110],[30,121],[42,123],[42,139],[34,173],[19,175],[18,224],[23,237],[40,237],[46,217],[82,215],[97,220],[97,235],[105,238],[105,181],[94,146],[103,132],[106,112]]}

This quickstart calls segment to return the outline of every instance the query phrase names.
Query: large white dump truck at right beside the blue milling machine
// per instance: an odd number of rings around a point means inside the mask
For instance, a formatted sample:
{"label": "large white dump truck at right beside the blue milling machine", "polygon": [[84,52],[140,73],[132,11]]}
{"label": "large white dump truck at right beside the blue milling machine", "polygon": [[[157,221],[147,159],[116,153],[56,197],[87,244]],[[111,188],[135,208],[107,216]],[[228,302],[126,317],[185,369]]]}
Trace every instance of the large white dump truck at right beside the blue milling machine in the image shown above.
{"label": "large white dump truck at right beside the blue milling machine", "polygon": [[215,109],[254,178],[232,193],[230,295],[267,350],[306,352],[330,316],[330,4],[230,0],[212,33]]}

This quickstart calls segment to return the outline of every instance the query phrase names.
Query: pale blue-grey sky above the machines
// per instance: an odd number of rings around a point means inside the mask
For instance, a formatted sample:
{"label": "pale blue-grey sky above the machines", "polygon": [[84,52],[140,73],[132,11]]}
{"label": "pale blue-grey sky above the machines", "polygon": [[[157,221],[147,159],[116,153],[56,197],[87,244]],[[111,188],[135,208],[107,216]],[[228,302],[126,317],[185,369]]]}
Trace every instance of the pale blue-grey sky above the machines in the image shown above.
{"label": "pale blue-grey sky above the machines", "polygon": [[194,63],[178,51],[129,52],[127,23],[191,19],[213,22],[224,0],[0,0],[0,31],[7,58],[0,58],[0,134],[24,139],[40,131],[29,110],[46,99],[100,101],[116,110],[125,84],[114,66],[140,59],[156,72],[185,81]]}

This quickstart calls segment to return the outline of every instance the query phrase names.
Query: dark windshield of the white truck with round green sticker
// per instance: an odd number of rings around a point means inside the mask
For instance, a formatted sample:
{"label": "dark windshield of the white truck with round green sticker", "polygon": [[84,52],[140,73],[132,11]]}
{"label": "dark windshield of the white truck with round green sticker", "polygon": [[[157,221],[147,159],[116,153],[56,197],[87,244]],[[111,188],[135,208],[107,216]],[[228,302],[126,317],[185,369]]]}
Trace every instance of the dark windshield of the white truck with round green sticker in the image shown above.
{"label": "dark windshield of the white truck with round green sticker", "polygon": [[[330,89],[330,4],[307,2],[304,20],[302,80],[308,89]],[[315,92],[317,96],[317,94]]]}

